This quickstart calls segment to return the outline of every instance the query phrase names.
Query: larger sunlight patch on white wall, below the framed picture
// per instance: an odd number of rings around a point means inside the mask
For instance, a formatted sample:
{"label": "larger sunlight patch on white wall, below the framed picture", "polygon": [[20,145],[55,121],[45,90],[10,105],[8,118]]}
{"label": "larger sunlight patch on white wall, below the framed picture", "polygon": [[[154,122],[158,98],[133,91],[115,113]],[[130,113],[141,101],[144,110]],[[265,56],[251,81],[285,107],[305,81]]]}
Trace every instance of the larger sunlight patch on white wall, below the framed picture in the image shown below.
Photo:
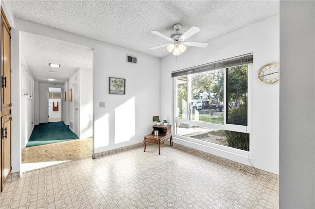
{"label": "larger sunlight patch on white wall, below the framed picture", "polygon": [[134,97],[115,108],[115,144],[129,141],[135,135]]}

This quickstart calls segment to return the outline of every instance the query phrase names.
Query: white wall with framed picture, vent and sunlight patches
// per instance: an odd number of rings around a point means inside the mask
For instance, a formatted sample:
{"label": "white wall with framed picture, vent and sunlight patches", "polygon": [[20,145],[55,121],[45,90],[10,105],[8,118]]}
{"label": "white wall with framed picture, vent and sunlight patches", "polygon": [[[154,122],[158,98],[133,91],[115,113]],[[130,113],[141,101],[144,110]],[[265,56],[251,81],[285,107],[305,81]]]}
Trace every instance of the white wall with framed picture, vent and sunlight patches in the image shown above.
{"label": "white wall with framed picture, vent and sunlight patches", "polygon": [[[126,63],[126,54],[136,56],[138,64]],[[160,60],[149,55],[113,45],[95,47],[95,153],[140,143],[152,131],[152,116],[159,115],[159,67]],[[126,79],[126,95],[109,94],[109,77]]]}

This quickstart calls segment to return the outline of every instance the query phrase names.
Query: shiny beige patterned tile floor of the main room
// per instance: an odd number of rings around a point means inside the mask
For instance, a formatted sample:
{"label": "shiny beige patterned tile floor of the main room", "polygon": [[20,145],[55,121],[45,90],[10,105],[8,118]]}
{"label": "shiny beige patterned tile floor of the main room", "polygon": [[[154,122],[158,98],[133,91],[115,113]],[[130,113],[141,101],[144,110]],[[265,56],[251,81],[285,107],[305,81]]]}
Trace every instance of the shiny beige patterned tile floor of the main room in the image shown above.
{"label": "shiny beige patterned tile floor of the main room", "polygon": [[155,144],[13,174],[0,208],[278,208],[278,178]]}

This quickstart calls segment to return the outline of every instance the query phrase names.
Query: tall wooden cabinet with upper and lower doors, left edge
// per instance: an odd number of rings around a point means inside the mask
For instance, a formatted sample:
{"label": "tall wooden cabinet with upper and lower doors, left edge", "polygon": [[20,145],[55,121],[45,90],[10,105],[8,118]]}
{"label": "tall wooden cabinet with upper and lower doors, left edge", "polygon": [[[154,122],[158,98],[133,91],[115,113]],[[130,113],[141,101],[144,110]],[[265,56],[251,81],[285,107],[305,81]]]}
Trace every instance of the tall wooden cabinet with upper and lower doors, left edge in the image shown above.
{"label": "tall wooden cabinet with upper and lower doors, left edge", "polygon": [[1,7],[1,139],[0,139],[0,192],[11,175],[11,36],[10,25]]}

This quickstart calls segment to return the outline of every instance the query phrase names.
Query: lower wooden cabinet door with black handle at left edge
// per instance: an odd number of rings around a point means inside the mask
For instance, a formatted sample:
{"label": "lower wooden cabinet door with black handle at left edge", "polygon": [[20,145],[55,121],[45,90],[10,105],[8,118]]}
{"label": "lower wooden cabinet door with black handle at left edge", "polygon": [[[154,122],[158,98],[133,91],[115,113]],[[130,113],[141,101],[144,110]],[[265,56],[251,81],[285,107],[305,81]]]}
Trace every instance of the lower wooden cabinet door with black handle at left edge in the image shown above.
{"label": "lower wooden cabinet door with black handle at left edge", "polygon": [[1,187],[3,188],[11,174],[11,115],[1,117],[1,127]]}

